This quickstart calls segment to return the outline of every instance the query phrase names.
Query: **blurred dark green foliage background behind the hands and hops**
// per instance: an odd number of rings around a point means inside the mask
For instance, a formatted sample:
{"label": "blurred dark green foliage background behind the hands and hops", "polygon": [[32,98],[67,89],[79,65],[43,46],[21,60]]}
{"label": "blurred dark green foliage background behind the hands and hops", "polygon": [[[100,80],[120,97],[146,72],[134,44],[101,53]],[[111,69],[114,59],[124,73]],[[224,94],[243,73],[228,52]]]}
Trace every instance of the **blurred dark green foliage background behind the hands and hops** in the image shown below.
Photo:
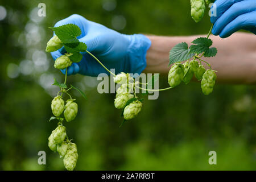
{"label": "blurred dark green foliage background behind the hands and hops", "polygon": [[[37,15],[40,2],[46,3],[46,17]],[[0,169],[64,169],[48,148],[56,127],[48,122],[51,100],[58,90],[51,84],[53,77],[64,78],[44,52],[52,36],[48,27],[80,14],[124,34],[206,34],[209,16],[196,24],[189,6],[187,0],[1,1]],[[97,93],[93,77],[69,76],[68,82],[87,96],[72,92],[79,114],[64,124],[79,150],[77,170],[256,169],[255,85],[218,84],[204,96],[198,82],[183,84],[158,100],[145,99],[141,114],[119,128],[114,94]],[[168,86],[166,75],[159,86]],[[46,165],[38,164],[42,150]],[[212,150],[217,165],[208,163]]]}

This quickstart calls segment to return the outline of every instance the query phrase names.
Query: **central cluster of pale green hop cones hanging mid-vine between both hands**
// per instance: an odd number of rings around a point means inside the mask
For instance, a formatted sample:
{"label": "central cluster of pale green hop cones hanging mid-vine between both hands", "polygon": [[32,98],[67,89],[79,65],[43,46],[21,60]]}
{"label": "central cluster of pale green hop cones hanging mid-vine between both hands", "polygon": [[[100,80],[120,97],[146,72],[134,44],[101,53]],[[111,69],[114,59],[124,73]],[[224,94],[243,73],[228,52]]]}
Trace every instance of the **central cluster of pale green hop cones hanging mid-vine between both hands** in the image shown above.
{"label": "central cluster of pale green hop cones hanging mid-vine between both hands", "polygon": [[[114,105],[117,109],[123,109],[123,118],[125,120],[137,117],[142,108],[142,102],[136,99],[134,83],[131,83],[130,80],[133,80],[133,78],[129,77],[129,73],[122,72],[114,77],[114,82],[121,84],[117,89]],[[134,100],[127,104],[133,98]]]}

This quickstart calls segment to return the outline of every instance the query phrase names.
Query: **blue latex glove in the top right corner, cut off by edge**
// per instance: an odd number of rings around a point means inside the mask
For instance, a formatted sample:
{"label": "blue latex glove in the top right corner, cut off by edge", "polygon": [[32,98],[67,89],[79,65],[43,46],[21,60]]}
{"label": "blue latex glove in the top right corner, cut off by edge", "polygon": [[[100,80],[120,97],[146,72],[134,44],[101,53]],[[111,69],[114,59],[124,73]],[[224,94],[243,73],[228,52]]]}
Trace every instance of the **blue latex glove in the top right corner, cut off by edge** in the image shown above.
{"label": "blue latex glove in the top right corner, cut off by edge", "polygon": [[[217,0],[217,16],[212,16],[213,35],[227,38],[238,30],[256,34],[256,0]],[[213,11],[213,6],[212,6]]]}

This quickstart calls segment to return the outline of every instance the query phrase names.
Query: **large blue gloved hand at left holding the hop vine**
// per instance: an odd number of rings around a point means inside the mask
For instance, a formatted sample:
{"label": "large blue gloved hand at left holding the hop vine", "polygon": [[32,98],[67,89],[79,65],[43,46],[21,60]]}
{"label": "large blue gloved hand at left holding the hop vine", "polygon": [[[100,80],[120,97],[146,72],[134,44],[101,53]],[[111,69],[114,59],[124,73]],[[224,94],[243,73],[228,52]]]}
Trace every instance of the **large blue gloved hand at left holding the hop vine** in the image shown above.
{"label": "large blue gloved hand at left holding the hop vine", "polygon": [[[55,27],[73,23],[79,26],[82,34],[77,37],[80,42],[87,44],[88,51],[92,52],[108,69],[115,69],[115,74],[141,73],[146,67],[146,52],[151,46],[151,41],[144,35],[124,35],[111,30],[101,24],[90,22],[80,15],[71,15],[60,20]],[[51,52],[53,59],[65,53],[65,49]],[[68,75],[80,73],[82,75],[97,76],[108,73],[88,53],[82,53],[79,63],[73,63],[68,68]],[[61,70],[65,73],[65,70]]]}

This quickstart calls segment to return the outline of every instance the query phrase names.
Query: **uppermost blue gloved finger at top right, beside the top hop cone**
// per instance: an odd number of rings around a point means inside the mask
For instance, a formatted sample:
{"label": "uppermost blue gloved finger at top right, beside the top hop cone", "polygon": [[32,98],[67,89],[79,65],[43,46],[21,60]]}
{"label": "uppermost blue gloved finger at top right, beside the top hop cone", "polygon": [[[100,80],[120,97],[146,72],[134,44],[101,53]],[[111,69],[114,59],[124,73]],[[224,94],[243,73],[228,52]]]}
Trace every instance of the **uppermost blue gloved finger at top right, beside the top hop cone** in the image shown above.
{"label": "uppermost blue gloved finger at top right, beside the top hop cone", "polygon": [[214,2],[214,5],[211,7],[210,11],[212,11],[213,14],[216,14],[216,16],[210,17],[210,22],[215,23],[218,18],[222,14],[225,13],[226,10],[229,9],[230,6],[232,6],[234,3],[244,1],[244,0],[217,0]]}

